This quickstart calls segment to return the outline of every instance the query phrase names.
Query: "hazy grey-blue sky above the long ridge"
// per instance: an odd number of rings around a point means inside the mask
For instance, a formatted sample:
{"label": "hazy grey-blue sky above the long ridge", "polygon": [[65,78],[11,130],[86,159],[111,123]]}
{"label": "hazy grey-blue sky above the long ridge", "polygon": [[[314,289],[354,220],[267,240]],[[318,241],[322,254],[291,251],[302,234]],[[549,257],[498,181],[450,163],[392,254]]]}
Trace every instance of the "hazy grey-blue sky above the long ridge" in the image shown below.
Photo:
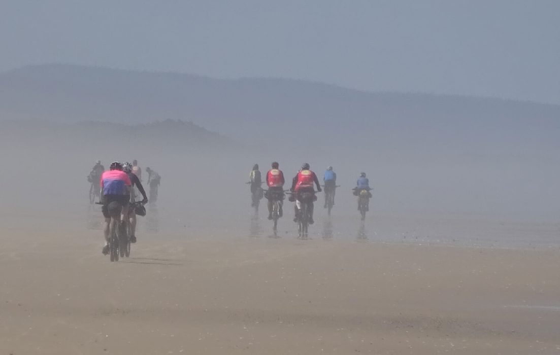
{"label": "hazy grey-blue sky above the long ridge", "polygon": [[560,104],[560,1],[0,0],[0,70],[72,63]]}

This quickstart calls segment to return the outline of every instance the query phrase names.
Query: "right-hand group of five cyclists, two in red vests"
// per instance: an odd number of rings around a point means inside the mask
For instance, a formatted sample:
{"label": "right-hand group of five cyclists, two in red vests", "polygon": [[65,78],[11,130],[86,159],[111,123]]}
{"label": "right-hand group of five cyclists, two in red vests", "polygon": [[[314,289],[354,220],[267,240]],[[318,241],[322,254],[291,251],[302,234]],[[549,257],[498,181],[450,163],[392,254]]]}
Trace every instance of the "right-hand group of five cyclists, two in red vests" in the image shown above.
{"label": "right-hand group of five cyclists, two in red vests", "polygon": [[[255,164],[253,166],[253,170],[249,173],[249,179],[251,184],[251,196],[255,196],[255,193],[262,190],[260,189],[260,185],[263,183],[261,178],[261,173],[259,171],[259,164]],[[266,175],[266,183],[268,186],[268,219],[272,219],[272,205],[273,201],[279,201],[279,217],[283,215],[282,209],[282,201],[284,198],[284,173],[279,169],[278,162],[272,163],[272,169],[267,172]],[[333,171],[333,167],[326,168],[326,171],[323,175],[323,183],[325,187],[325,208],[327,207],[327,194],[330,194],[331,203],[334,205],[334,193],[337,186],[337,173]],[[297,172],[296,176],[292,178],[292,186],[290,188],[291,196],[289,200],[291,202],[296,202],[294,207],[294,219],[293,221],[297,223],[298,219],[300,218],[300,210],[301,210],[301,196],[305,193],[310,193],[313,196],[313,201],[317,200],[315,196],[315,189],[314,185],[317,187],[317,192],[321,192],[321,185],[319,184],[319,178],[317,175],[311,171],[310,165],[308,163],[304,163],[301,166],[301,169]],[[358,196],[360,191],[366,190],[368,192],[368,196],[371,197],[371,188],[370,188],[370,181],[366,177],[366,173],[361,173],[360,177],[356,182],[356,187],[353,188],[354,195]],[[255,204],[255,198],[252,198],[251,206]],[[257,197],[260,198],[260,197]],[[309,224],[313,224],[313,203],[310,203],[309,209]]]}

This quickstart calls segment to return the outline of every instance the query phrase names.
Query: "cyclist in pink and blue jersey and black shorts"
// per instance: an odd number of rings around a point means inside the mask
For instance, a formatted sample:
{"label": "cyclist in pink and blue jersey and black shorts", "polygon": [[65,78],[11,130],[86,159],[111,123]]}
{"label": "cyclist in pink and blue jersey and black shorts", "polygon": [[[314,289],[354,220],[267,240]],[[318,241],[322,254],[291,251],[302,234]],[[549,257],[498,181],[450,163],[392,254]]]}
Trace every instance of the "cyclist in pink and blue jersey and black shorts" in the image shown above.
{"label": "cyclist in pink and blue jersey and black shorts", "polygon": [[113,233],[110,230],[111,216],[118,215],[120,212],[120,230],[124,231],[126,226],[126,216],[128,216],[128,201],[130,194],[130,178],[123,172],[123,164],[119,162],[111,163],[109,170],[101,174],[100,179],[101,198],[103,206],[101,212],[105,217],[105,246],[103,254],[109,253],[109,236]]}

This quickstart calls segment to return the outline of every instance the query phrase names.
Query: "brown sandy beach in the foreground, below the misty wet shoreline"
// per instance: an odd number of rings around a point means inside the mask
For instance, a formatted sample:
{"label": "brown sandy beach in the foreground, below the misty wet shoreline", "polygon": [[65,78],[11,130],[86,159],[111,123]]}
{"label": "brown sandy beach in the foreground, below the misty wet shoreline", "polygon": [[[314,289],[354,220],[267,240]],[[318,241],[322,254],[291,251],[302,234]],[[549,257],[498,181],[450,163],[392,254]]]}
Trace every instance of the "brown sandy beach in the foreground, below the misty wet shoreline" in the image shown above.
{"label": "brown sandy beach in the foreground, below the misty wet shoreline", "polygon": [[101,238],[4,232],[0,353],[560,353],[557,248]]}

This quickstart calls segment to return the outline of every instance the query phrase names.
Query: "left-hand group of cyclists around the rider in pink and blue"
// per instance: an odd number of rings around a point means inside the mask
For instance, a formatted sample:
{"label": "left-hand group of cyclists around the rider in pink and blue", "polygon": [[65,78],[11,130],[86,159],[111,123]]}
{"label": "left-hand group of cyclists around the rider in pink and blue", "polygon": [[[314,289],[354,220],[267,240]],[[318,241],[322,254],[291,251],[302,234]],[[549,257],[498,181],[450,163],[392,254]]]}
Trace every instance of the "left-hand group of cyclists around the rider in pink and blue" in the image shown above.
{"label": "left-hand group of cyclists around the rider in pink and blue", "polygon": [[[155,187],[157,189],[160,184],[160,176],[149,167],[146,168],[146,172],[148,173],[148,184],[151,188]],[[148,202],[146,190],[142,186],[142,169],[138,166],[137,160],[133,160],[132,163],[113,162],[108,171],[105,171],[100,160],[97,160],[91,169],[88,181],[92,184],[98,182],[97,187],[100,191],[101,212],[105,217],[103,230],[105,245],[102,253],[105,255],[109,253],[109,236],[113,233],[113,230],[111,230],[113,226],[110,223],[111,217],[119,220],[118,228],[123,233],[127,228],[127,223],[129,223],[130,242],[136,243],[135,187],[142,195],[142,204]],[[139,211],[142,211],[142,209]],[[145,210],[141,213],[145,214]]]}

